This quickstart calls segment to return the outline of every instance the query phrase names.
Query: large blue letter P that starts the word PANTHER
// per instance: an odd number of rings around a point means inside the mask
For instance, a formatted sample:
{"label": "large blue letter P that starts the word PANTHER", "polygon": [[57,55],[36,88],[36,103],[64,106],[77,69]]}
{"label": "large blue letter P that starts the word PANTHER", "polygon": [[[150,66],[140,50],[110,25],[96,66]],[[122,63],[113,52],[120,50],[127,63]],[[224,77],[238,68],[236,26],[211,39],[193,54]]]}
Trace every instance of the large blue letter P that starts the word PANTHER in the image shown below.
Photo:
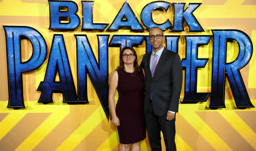
{"label": "large blue letter P that starts the word PANTHER", "polygon": [[[9,81],[9,103],[7,107],[25,107],[23,101],[22,73],[35,70],[46,58],[47,45],[43,36],[33,28],[22,26],[3,26],[6,35],[6,55]],[[32,43],[31,58],[22,62],[20,40]]]}

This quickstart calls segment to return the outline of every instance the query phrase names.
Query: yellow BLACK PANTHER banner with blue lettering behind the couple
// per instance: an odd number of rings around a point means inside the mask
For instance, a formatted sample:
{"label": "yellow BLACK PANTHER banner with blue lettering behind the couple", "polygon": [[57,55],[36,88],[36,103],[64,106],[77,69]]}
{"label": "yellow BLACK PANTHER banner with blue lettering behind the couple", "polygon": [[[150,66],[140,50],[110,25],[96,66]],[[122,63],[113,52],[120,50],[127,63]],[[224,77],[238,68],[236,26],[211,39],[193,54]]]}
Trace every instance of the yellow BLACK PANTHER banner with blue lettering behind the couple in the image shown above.
{"label": "yellow BLACK PANTHER banner with blue lettering behind the couple", "polygon": [[[0,0],[0,7],[1,150],[118,150],[109,78],[123,47],[141,64],[153,27],[183,66],[177,150],[256,149],[256,1]],[[141,150],[151,150],[147,138]]]}

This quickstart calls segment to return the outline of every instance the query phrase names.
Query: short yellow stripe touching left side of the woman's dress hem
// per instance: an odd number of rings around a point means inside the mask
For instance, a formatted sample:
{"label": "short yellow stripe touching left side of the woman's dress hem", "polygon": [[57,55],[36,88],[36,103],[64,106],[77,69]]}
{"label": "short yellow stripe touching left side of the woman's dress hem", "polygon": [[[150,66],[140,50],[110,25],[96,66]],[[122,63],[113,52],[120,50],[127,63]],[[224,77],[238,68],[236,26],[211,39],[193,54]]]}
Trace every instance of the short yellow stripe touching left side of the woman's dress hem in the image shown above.
{"label": "short yellow stripe touching left side of the woman's dress hem", "polygon": [[109,150],[110,151],[110,150],[113,150],[118,144],[119,144],[118,132],[115,131],[96,150],[97,151],[100,151],[100,150],[105,150],[105,151]]}

